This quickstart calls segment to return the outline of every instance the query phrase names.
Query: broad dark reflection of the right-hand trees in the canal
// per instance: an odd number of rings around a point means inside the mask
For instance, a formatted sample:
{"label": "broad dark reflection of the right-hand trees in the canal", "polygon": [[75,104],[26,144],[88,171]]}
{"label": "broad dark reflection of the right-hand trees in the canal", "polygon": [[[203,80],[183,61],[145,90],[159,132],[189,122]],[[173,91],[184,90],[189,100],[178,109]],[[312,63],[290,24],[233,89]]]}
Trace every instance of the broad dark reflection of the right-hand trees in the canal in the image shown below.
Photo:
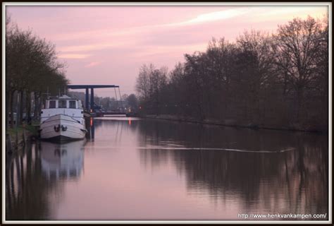
{"label": "broad dark reflection of the right-hand trees in the canal", "polygon": [[142,164],[154,170],[173,162],[190,195],[234,203],[238,213],[328,213],[324,136],[161,121],[139,128],[141,146],[149,147],[139,149]]}

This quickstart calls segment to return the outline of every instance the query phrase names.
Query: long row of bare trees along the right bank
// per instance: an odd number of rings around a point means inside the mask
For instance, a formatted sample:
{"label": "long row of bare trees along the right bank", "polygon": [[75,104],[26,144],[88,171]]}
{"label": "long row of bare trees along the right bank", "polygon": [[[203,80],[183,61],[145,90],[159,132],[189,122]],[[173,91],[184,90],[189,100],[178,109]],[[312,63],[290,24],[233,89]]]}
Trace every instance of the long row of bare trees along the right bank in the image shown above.
{"label": "long row of bare trees along the right bank", "polygon": [[328,63],[328,20],[309,16],[273,34],[213,38],[169,72],[144,64],[136,88],[144,114],[327,131]]}

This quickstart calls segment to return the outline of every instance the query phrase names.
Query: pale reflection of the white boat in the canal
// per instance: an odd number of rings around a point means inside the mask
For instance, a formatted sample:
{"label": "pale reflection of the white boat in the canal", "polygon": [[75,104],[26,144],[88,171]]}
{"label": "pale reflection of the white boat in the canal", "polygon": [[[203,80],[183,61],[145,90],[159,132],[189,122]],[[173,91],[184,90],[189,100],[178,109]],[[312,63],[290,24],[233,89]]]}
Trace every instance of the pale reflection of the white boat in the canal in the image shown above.
{"label": "pale reflection of the white boat in the canal", "polygon": [[87,141],[51,143],[41,141],[42,171],[47,179],[73,179],[80,176]]}

